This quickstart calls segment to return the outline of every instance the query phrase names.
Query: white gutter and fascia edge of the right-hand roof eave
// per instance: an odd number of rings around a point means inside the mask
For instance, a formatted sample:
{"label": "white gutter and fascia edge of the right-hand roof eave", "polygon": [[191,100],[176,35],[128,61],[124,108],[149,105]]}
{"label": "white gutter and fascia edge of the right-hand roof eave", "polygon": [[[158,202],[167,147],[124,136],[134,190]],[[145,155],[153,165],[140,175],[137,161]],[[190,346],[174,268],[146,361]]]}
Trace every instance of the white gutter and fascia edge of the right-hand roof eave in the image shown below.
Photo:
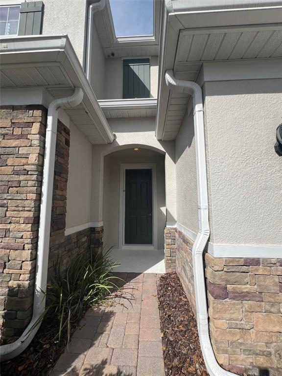
{"label": "white gutter and fascia edge of the right-hand roof eave", "polygon": [[[186,6],[183,6],[185,3]],[[212,3],[212,0],[209,3]],[[222,0],[220,3],[219,9],[207,9],[207,6],[204,6],[207,5],[206,0],[200,2],[197,0],[194,7],[188,8],[187,1],[165,0],[160,40],[159,100],[155,131],[158,140],[163,140],[169,98],[169,89],[165,84],[164,75],[166,70],[173,70],[174,68],[178,36],[181,29],[281,23],[282,1],[250,0],[248,7],[242,7],[243,1],[235,0],[235,2],[233,1],[233,8],[228,8],[228,0]],[[257,6],[255,6],[255,3],[257,3]],[[267,6],[258,6],[258,3]],[[268,6],[270,3],[272,6]],[[277,10],[280,10],[280,12],[277,12]]]}

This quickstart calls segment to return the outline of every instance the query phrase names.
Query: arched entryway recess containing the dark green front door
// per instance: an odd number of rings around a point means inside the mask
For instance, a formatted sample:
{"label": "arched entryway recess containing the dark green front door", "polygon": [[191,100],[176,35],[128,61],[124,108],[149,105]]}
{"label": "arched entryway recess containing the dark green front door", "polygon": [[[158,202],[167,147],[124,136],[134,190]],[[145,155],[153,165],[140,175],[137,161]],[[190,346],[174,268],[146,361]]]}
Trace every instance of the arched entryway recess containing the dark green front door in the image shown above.
{"label": "arched entryway recess containing the dark green front door", "polygon": [[137,144],[104,156],[104,244],[113,246],[122,271],[164,271],[164,156]]}

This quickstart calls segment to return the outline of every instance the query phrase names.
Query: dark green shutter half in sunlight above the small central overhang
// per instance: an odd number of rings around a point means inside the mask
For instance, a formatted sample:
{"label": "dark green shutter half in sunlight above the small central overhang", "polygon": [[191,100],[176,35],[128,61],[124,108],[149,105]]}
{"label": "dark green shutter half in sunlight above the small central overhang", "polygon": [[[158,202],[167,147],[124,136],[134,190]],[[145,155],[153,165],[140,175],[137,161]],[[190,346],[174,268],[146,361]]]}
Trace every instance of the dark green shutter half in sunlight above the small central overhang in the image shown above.
{"label": "dark green shutter half in sunlight above the small central overhang", "polygon": [[123,60],[123,98],[150,97],[150,60]]}

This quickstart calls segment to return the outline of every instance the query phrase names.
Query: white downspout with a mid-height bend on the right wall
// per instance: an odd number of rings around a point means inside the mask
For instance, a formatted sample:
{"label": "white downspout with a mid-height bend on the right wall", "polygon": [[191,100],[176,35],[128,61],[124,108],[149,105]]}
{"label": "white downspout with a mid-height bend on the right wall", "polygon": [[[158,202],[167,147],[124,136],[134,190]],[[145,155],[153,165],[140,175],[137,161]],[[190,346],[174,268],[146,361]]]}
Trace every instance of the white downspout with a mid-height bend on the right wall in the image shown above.
{"label": "white downspout with a mid-height bend on the right wall", "polygon": [[192,257],[197,325],[203,358],[210,376],[235,376],[232,372],[221,368],[217,363],[209,335],[203,252],[210,236],[210,224],[202,89],[195,82],[175,79],[171,70],[165,72],[165,82],[169,89],[178,93],[188,93],[193,97],[199,232],[192,248]]}

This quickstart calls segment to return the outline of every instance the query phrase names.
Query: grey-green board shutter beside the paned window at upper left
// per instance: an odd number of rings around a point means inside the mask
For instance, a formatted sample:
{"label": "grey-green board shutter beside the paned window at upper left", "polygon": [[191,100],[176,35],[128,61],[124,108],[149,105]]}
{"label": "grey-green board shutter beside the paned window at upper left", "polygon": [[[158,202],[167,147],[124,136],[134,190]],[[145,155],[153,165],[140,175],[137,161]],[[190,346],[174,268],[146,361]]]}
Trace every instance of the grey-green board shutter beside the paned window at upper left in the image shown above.
{"label": "grey-green board shutter beside the paned window at upper left", "polygon": [[22,2],[18,35],[42,33],[43,1]]}

